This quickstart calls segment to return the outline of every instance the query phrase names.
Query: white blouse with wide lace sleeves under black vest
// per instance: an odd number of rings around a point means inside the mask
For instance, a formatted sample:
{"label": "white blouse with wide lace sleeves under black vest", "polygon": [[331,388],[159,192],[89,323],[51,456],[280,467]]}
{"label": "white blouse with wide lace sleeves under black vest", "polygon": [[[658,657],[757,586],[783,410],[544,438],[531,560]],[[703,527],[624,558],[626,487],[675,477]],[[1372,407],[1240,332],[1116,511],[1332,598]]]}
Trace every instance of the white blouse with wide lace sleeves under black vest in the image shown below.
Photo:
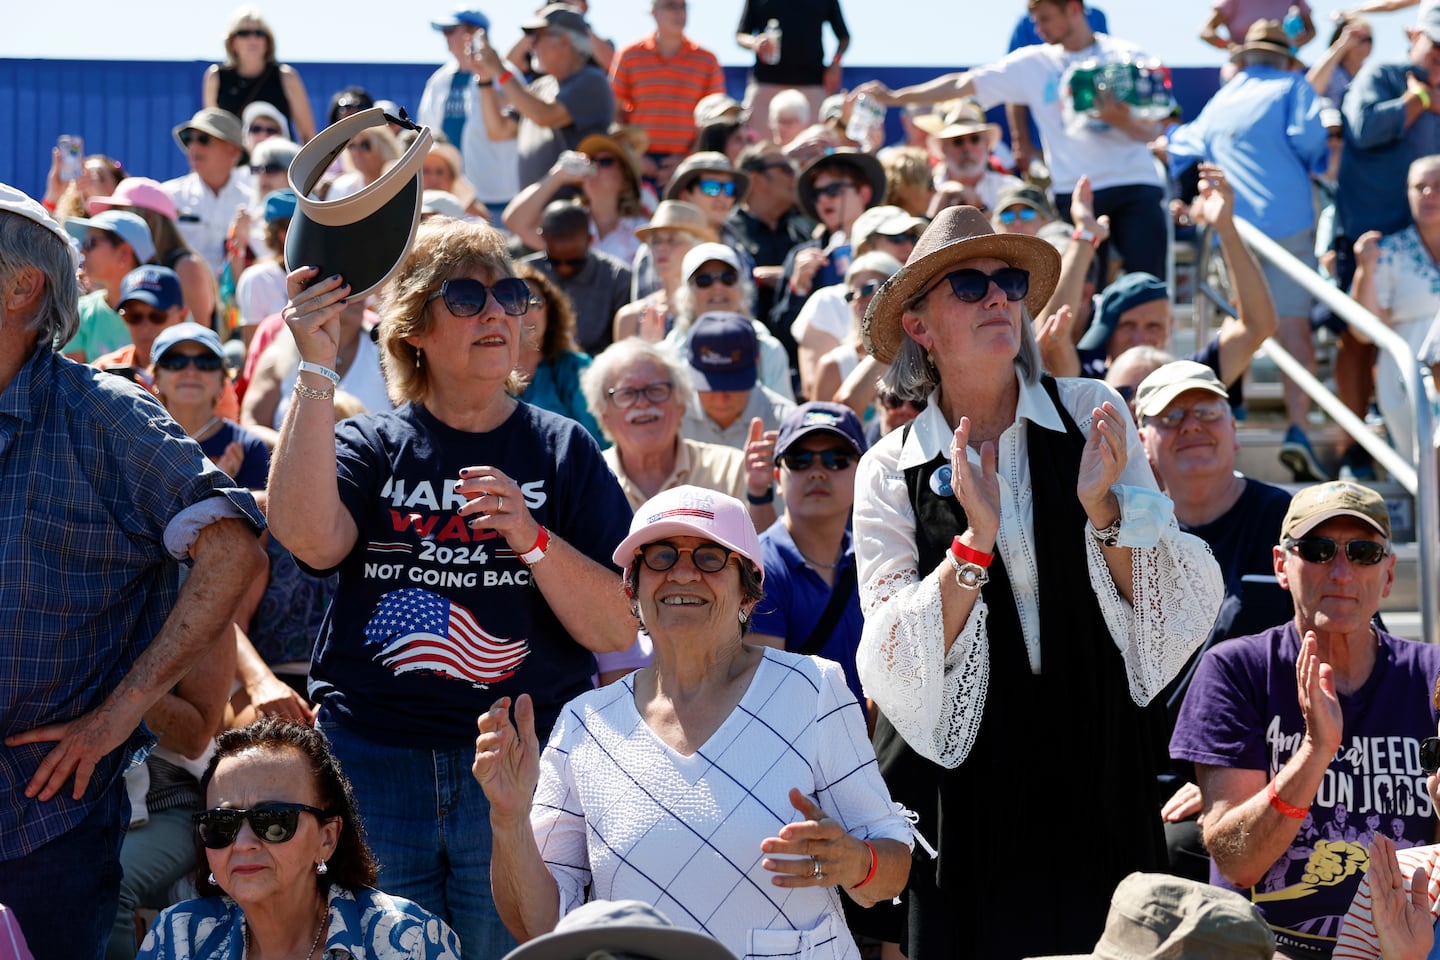
{"label": "white blouse with wide lace sleeves under black vest", "polygon": [[[1100,380],[1058,380],[1064,403],[1086,436],[1094,407],[1120,397]],[[998,440],[1001,524],[995,548],[1015,592],[1030,666],[1040,672],[1040,602],[1034,547],[1034,501],[1024,422],[1064,430],[1044,387],[1020,384],[1015,422]],[[939,393],[913,422],[894,430],[861,461],[855,476],[855,554],[865,628],[857,653],[860,681],[917,753],[946,767],[969,754],[985,711],[989,682],[986,606],[978,597],[959,636],[945,652],[940,584],[917,570],[914,511],[904,471],[950,449],[953,429]],[[1126,420],[1128,461],[1115,491],[1120,499],[1120,544],[1133,547],[1135,606],[1110,580],[1099,544],[1084,527],[1090,584],[1106,626],[1125,658],[1130,697],[1149,702],[1204,642],[1224,592],[1220,567],[1202,540],[1175,524],[1174,505],[1159,494],[1135,425]],[[968,450],[979,465],[978,453]],[[949,569],[942,570],[949,576]]]}

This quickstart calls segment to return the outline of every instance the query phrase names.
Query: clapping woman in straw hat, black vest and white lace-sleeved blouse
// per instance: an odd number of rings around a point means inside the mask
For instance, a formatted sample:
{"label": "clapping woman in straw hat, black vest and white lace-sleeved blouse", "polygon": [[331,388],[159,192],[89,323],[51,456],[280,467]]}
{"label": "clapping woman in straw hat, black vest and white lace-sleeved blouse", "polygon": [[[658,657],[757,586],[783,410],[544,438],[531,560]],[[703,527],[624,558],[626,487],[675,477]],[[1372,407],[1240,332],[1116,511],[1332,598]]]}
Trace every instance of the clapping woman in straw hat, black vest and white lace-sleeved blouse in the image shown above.
{"label": "clapping woman in straw hat, black vest and white lace-sleeved blouse", "polygon": [[[877,753],[939,849],[912,871],[910,960],[1083,951],[1109,891],[1165,865],[1145,704],[1205,639],[1220,571],[1119,396],[1041,376],[1031,314],[1058,271],[1044,240],[949,207],[865,311],[886,387],[929,402],[855,481]],[[994,829],[1001,807],[1018,829]],[[1102,828],[1044,910],[992,923],[1035,864]]]}

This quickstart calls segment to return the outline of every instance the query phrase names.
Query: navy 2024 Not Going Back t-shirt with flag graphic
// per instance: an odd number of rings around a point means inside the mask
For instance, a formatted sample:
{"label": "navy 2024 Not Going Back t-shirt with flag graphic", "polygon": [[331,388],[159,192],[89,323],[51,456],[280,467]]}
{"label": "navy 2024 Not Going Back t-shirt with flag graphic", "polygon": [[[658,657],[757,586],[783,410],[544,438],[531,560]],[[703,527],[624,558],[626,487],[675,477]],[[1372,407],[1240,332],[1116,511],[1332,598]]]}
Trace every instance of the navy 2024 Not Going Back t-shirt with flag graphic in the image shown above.
{"label": "navy 2024 Not Going Back t-shirt with flag graphic", "polygon": [[341,422],[336,453],[360,537],[336,567],[311,698],[376,743],[441,748],[474,743],[475,717],[497,698],[530,694],[544,743],[560,707],[590,687],[595,656],[504,537],[456,512],[455,484],[462,466],[498,468],[537,522],[609,569],[631,508],[595,440],[523,402],[487,433],[409,404]]}

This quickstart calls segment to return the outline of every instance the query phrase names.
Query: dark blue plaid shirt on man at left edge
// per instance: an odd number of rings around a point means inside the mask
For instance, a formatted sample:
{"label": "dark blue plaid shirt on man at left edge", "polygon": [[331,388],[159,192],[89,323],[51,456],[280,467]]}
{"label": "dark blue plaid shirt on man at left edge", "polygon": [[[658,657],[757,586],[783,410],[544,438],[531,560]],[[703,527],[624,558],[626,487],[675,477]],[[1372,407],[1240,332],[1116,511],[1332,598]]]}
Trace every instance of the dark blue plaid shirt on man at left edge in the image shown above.
{"label": "dark blue plaid shirt on man at left edge", "polygon": [[[144,389],[36,350],[0,393],[0,738],[101,704],[222,515],[265,525]],[[45,802],[23,790],[53,744],[0,744],[0,862],[78,825],[144,743],[107,754],[79,800],[66,784]]]}

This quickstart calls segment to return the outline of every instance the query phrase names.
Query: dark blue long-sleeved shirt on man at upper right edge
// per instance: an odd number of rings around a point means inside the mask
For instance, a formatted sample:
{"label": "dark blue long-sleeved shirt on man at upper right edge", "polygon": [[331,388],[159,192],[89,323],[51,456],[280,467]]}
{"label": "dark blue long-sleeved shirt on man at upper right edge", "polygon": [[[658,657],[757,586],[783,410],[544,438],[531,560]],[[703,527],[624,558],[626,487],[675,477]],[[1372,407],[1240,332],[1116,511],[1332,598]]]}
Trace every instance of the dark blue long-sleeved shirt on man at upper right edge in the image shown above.
{"label": "dark blue long-sleeved shirt on man at upper right edge", "polygon": [[1411,63],[1367,63],[1345,94],[1335,216],[1338,232],[1351,242],[1367,230],[1395,233],[1410,226],[1410,164],[1440,153],[1440,117],[1426,111],[1405,127],[1405,73],[1426,79]]}

